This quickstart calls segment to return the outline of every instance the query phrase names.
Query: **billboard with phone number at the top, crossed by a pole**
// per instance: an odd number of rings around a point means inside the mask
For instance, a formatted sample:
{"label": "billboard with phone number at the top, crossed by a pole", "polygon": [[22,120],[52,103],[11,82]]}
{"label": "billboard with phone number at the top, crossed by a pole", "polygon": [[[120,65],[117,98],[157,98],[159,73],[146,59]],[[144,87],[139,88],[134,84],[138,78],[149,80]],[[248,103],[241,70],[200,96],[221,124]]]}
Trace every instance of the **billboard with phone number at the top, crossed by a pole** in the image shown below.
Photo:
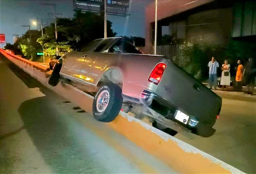
{"label": "billboard with phone number at the top, crossed by a pole", "polygon": [[[100,14],[104,10],[105,0],[73,0],[74,10]],[[106,0],[107,14],[127,16],[130,0]]]}

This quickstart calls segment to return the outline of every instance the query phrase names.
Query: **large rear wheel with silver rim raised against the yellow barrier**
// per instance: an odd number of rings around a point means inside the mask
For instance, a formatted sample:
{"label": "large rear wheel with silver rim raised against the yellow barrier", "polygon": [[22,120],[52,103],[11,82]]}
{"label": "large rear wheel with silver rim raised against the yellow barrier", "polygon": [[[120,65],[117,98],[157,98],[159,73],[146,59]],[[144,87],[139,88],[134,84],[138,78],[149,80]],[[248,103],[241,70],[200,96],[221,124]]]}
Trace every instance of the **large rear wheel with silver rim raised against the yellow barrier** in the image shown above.
{"label": "large rear wheel with silver rim raised against the yellow barrier", "polygon": [[117,84],[104,84],[93,99],[94,118],[100,122],[113,121],[121,110],[122,101],[122,90]]}

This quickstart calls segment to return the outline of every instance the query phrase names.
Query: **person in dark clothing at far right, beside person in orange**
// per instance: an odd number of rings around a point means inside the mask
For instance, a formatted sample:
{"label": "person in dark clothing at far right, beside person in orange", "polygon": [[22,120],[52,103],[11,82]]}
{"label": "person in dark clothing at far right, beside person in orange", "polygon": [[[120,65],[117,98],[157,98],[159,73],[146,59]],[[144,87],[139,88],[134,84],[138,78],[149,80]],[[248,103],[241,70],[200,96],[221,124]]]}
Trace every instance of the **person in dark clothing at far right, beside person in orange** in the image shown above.
{"label": "person in dark clothing at far right, beside person in orange", "polygon": [[249,58],[247,62],[243,76],[245,76],[245,81],[247,85],[247,92],[248,94],[253,93],[254,83],[255,83],[255,75],[256,75],[256,64],[253,62],[253,58]]}

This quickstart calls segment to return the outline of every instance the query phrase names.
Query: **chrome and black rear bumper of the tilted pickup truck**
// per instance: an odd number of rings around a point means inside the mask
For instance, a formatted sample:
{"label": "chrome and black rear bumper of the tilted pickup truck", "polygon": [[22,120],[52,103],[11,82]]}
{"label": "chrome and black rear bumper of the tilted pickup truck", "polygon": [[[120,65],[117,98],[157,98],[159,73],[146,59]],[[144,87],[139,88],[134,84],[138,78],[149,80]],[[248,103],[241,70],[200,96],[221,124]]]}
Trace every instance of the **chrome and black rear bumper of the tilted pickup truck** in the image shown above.
{"label": "chrome and black rear bumper of the tilted pickup truck", "polygon": [[[201,123],[200,120],[198,120],[198,123],[195,126],[189,124],[185,125],[182,122],[177,121],[175,119],[177,107],[148,90],[143,90],[141,93],[140,104],[144,105],[144,114],[151,114],[152,117],[156,117],[157,115],[157,118],[155,118],[156,120],[163,125],[168,125],[169,128],[175,131],[180,131],[180,127],[183,127],[185,130],[192,131],[192,133],[203,137],[209,137],[215,133],[215,129]],[[169,110],[169,112],[165,113],[164,110]],[[192,119],[192,117],[189,118],[189,121],[190,119]]]}

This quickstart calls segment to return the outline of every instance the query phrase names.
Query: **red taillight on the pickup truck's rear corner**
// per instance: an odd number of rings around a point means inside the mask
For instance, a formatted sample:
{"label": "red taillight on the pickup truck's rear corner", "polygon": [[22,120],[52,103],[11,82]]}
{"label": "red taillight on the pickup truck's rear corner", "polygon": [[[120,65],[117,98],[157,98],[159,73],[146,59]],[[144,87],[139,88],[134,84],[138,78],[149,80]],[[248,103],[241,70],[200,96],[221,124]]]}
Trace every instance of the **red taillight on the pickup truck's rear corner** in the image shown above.
{"label": "red taillight on the pickup truck's rear corner", "polygon": [[149,75],[148,81],[154,84],[158,84],[163,76],[163,72],[165,68],[166,68],[166,64],[164,63],[157,64],[152,70],[151,74]]}

